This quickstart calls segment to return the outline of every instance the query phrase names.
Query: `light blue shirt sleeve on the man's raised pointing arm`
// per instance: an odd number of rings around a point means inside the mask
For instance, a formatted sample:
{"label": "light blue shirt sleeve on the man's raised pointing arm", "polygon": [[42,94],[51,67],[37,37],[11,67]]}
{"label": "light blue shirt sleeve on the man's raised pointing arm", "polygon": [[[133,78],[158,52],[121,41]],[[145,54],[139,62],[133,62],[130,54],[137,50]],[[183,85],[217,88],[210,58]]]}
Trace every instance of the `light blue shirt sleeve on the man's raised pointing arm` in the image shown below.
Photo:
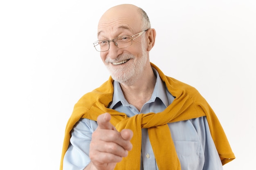
{"label": "light blue shirt sleeve on the man's raised pointing arm", "polygon": [[97,122],[80,119],[71,132],[70,145],[63,159],[63,170],[83,170],[89,163],[89,148],[92,132]]}

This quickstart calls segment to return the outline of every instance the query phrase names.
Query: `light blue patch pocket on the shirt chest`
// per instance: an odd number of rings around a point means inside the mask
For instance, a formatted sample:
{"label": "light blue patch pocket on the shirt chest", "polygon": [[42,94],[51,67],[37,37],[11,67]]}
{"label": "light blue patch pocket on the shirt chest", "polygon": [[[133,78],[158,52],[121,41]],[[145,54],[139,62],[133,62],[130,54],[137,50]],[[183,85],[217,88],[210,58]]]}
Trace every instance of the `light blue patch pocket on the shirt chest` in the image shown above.
{"label": "light blue patch pocket on the shirt chest", "polygon": [[175,149],[180,160],[182,170],[197,170],[200,160],[201,142],[199,141],[174,141]]}

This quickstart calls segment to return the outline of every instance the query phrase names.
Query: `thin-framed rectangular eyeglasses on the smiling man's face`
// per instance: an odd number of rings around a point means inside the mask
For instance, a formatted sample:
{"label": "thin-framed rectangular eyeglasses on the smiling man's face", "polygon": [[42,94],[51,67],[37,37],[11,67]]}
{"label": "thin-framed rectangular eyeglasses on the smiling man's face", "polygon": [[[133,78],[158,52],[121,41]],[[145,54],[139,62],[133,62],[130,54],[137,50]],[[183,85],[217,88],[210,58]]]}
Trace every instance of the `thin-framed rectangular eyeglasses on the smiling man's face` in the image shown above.
{"label": "thin-framed rectangular eyeglasses on the smiling man's face", "polygon": [[142,35],[144,32],[148,31],[148,29],[141,31],[140,33],[137,33],[135,35],[124,35],[124,36],[120,36],[117,37],[113,40],[99,40],[93,43],[94,48],[99,51],[99,52],[103,52],[103,51],[108,51],[110,48],[110,42],[114,42],[114,44],[119,48],[119,49],[123,49],[126,48],[128,46],[132,45],[132,40],[135,40],[136,38],[138,38],[140,35]]}

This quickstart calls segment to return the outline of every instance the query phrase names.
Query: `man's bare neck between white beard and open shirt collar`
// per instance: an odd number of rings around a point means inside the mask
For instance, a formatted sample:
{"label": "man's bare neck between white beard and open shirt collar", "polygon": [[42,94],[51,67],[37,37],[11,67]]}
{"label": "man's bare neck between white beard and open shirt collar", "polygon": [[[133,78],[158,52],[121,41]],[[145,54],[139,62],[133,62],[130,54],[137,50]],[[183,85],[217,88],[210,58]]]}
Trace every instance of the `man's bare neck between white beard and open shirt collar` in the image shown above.
{"label": "man's bare neck between white beard and open shirt collar", "polygon": [[131,85],[121,84],[121,89],[124,93],[129,104],[135,106],[139,111],[142,106],[148,102],[155,88],[156,77],[150,66],[149,69],[145,69],[144,74]]}

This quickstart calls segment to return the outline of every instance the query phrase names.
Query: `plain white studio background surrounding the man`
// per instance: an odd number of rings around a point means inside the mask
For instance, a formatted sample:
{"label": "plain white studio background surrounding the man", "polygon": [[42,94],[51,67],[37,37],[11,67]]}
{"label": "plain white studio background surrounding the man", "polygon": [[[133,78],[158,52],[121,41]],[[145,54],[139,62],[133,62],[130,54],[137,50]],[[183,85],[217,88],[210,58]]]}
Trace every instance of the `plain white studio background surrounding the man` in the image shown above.
{"label": "plain white studio background surrounding the man", "polygon": [[252,169],[255,0],[1,1],[0,169],[59,169],[74,104],[109,77],[92,46],[98,20],[122,3],[143,8],[157,31],[151,62],[215,110],[236,155],[224,170]]}

